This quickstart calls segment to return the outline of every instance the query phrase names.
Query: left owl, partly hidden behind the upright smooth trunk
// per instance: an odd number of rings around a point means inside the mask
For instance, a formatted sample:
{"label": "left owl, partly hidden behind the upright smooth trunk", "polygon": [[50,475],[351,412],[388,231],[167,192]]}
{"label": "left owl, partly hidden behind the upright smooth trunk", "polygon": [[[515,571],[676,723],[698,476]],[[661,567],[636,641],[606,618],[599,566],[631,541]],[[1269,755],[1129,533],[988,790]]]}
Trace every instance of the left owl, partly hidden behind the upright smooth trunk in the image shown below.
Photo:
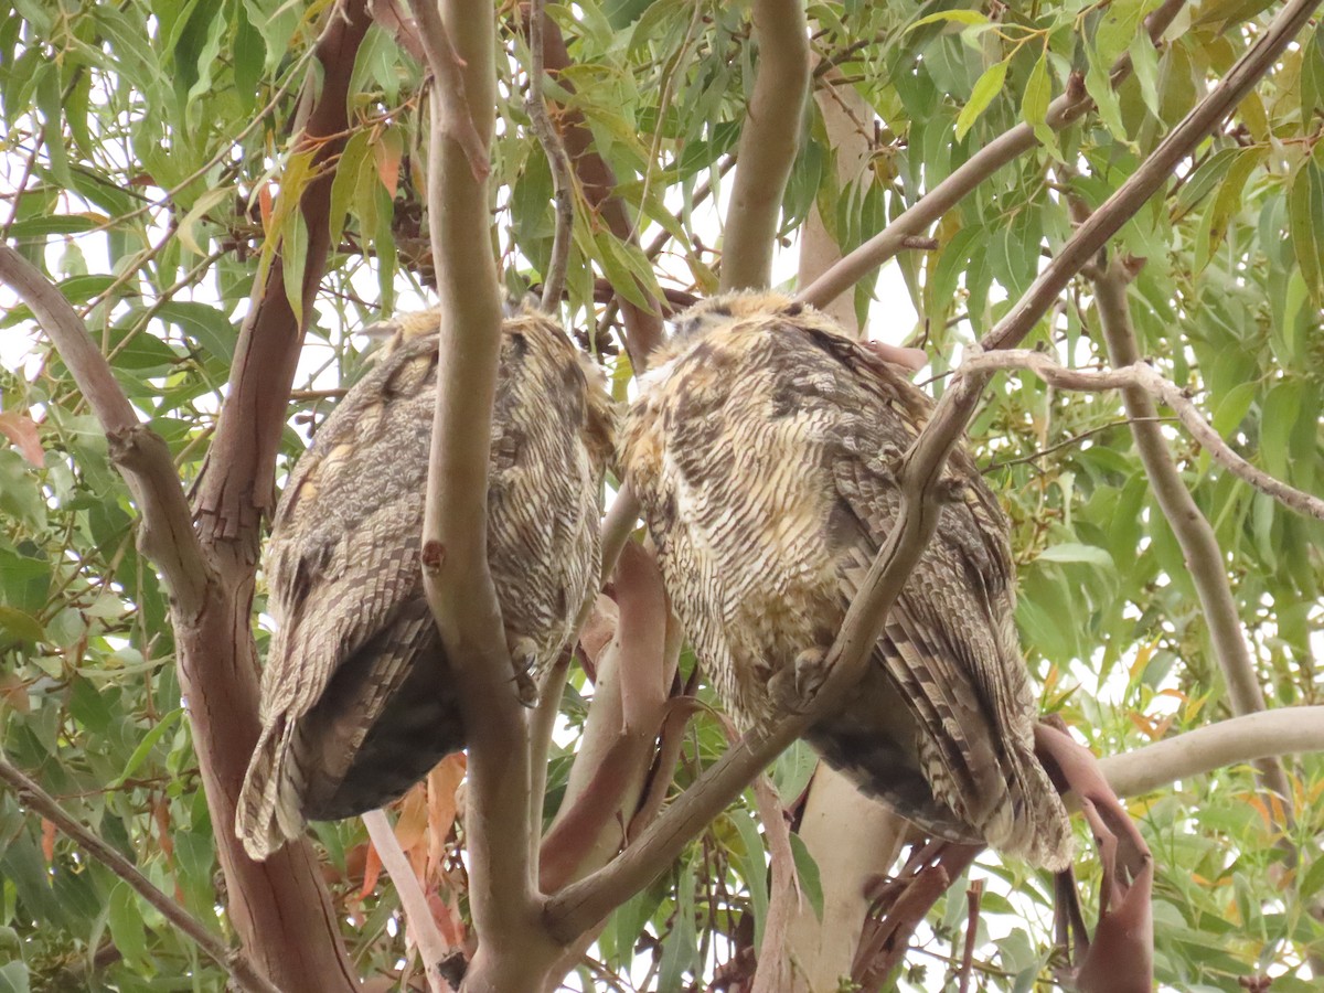
{"label": "left owl, partly hidden behind the upright smooth trunk", "polygon": [[[465,743],[420,563],[438,314],[387,327],[381,357],[322,425],[275,511],[266,575],[277,633],[236,816],[253,858],[306,818],[381,806]],[[608,397],[561,330],[534,312],[507,319],[487,549],[522,670],[512,678],[526,683],[596,589],[610,450]]]}

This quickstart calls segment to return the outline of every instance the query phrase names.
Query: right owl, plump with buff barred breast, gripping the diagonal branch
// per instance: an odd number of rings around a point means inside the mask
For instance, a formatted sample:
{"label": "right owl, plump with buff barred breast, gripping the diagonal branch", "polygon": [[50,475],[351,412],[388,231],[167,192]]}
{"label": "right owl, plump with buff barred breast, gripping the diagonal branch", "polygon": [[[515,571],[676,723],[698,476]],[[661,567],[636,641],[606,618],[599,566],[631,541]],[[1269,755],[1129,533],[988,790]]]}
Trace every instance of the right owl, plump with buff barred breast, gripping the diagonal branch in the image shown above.
{"label": "right owl, plump with buff barred breast, gripping the diagonal branch", "polygon": [[[793,706],[786,687],[821,666],[898,518],[895,469],[932,406],[825,314],[775,294],[696,305],[654,357],[622,469],[741,726]],[[924,830],[1059,869],[1071,831],[1034,756],[1006,519],[967,451],[944,475],[953,502],[866,675],[806,737]]]}

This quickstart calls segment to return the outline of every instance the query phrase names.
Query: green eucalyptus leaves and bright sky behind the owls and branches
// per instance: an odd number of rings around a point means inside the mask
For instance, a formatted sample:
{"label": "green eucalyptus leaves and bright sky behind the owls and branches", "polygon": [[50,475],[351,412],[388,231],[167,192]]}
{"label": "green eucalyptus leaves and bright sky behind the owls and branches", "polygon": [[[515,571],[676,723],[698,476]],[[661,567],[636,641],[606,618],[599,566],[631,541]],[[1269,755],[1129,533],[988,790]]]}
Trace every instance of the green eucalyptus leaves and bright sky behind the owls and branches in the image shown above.
{"label": "green eucalyptus leaves and bright sky behind the owls and branches", "polygon": [[[936,225],[936,250],[904,252],[888,266],[884,285],[896,289],[874,308],[873,332],[922,344],[931,388],[940,391],[961,347],[992,327],[1070,233],[1068,196],[1102,203],[1227,69],[1270,8],[1192,3],[1155,49],[1140,30],[1155,5],[810,4],[814,53],[835,69],[816,83],[854,87],[875,117],[859,120],[869,168],[842,184],[810,105],[782,205],[786,258],[813,205],[849,250],[1005,128],[1041,126],[1042,148]],[[654,293],[715,289],[720,232],[711,205],[722,203],[752,85],[748,11],[606,0],[551,12],[569,44],[573,65],[561,79],[573,91],[549,85],[548,95],[587,119],[645,246],[614,236],[580,201],[564,315],[624,397],[629,361],[614,308],[594,303],[593,281],[605,278],[638,302],[636,281]],[[185,481],[207,455],[254,274],[278,246],[298,307],[307,232],[274,193],[291,204],[289,193],[312,177],[311,152],[293,151],[287,135],[328,13],[326,0],[16,0],[0,15],[3,234],[83,314]],[[1144,260],[1131,289],[1144,352],[1190,388],[1238,451],[1315,493],[1324,486],[1320,30],[1299,38],[1233,126],[1117,240],[1120,252]],[[523,42],[512,23],[500,37],[508,58],[498,62],[493,249],[519,289],[547,265],[552,185],[523,109]],[[1107,68],[1123,53],[1135,71],[1113,93]],[[1099,110],[1053,134],[1045,110],[1071,71],[1083,73]],[[388,32],[369,29],[354,68],[352,136],[335,166],[335,257],[307,338],[282,471],[335,389],[361,368],[352,332],[426,297],[421,86],[420,66]],[[866,282],[857,293],[862,311],[870,295]],[[899,316],[907,295],[922,315],[914,324]],[[166,593],[134,547],[127,490],[30,314],[12,306],[0,323],[0,429],[12,442],[0,449],[0,741],[163,890],[225,927]],[[1086,281],[1041,324],[1035,343],[1076,365],[1106,363]],[[1120,400],[1008,376],[994,381],[972,434],[1014,522],[1018,621],[1045,707],[1100,755],[1227,716],[1189,571],[1149,494]],[[1324,527],[1211,466],[1181,430],[1168,436],[1227,555],[1270,706],[1324,703],[1316,661]],[[691,666],[683,663],[682,677]],[[567,732],[551,759],[548,817],[591,698],[592,683],[576,670],[563,704]],[[675,788],[724,743],[720,722],[700,712]],[[784,802],[793,804],[810,771],[802,748],[782,757],[775,780]],[[1274,990],[1315,988],[1303,963],[1324,955],[1324,931],[1308,912],[1324,896],[1324,765],[1307,756],[1288,773],[1301,853],[1295,866],[1274,847],[1247,768],[1132,804],[1158,863],[1156,968],[1165,985],[1222,990],[1271,974]],[[440,886],[438,916],[459,933],[462,830],[446,793],[454,779],[458,769],[444,769],[430,797],[410,794],[397,830],[420,873]],[[361,826],[319,825],[316,834],[354,960],[367,976],[397,974],[397,900],[376,879]],[[816,870],[797,851],[813,902]],[[0,793],[0,989],[224,985],[187,939],[9,793]],[[974,871],[989,878],[976,985],[1030,989],[1047,976],[1051,880],[992,857]],[[1084,876],[1092,878],[1088,859]],[[767,902],[764,837],[747,794],[613,915],[581,982],[702,988],[761,931]],[[964,911],[957,886],[920,932],[902,988],[937,989],[952,974]]]}

